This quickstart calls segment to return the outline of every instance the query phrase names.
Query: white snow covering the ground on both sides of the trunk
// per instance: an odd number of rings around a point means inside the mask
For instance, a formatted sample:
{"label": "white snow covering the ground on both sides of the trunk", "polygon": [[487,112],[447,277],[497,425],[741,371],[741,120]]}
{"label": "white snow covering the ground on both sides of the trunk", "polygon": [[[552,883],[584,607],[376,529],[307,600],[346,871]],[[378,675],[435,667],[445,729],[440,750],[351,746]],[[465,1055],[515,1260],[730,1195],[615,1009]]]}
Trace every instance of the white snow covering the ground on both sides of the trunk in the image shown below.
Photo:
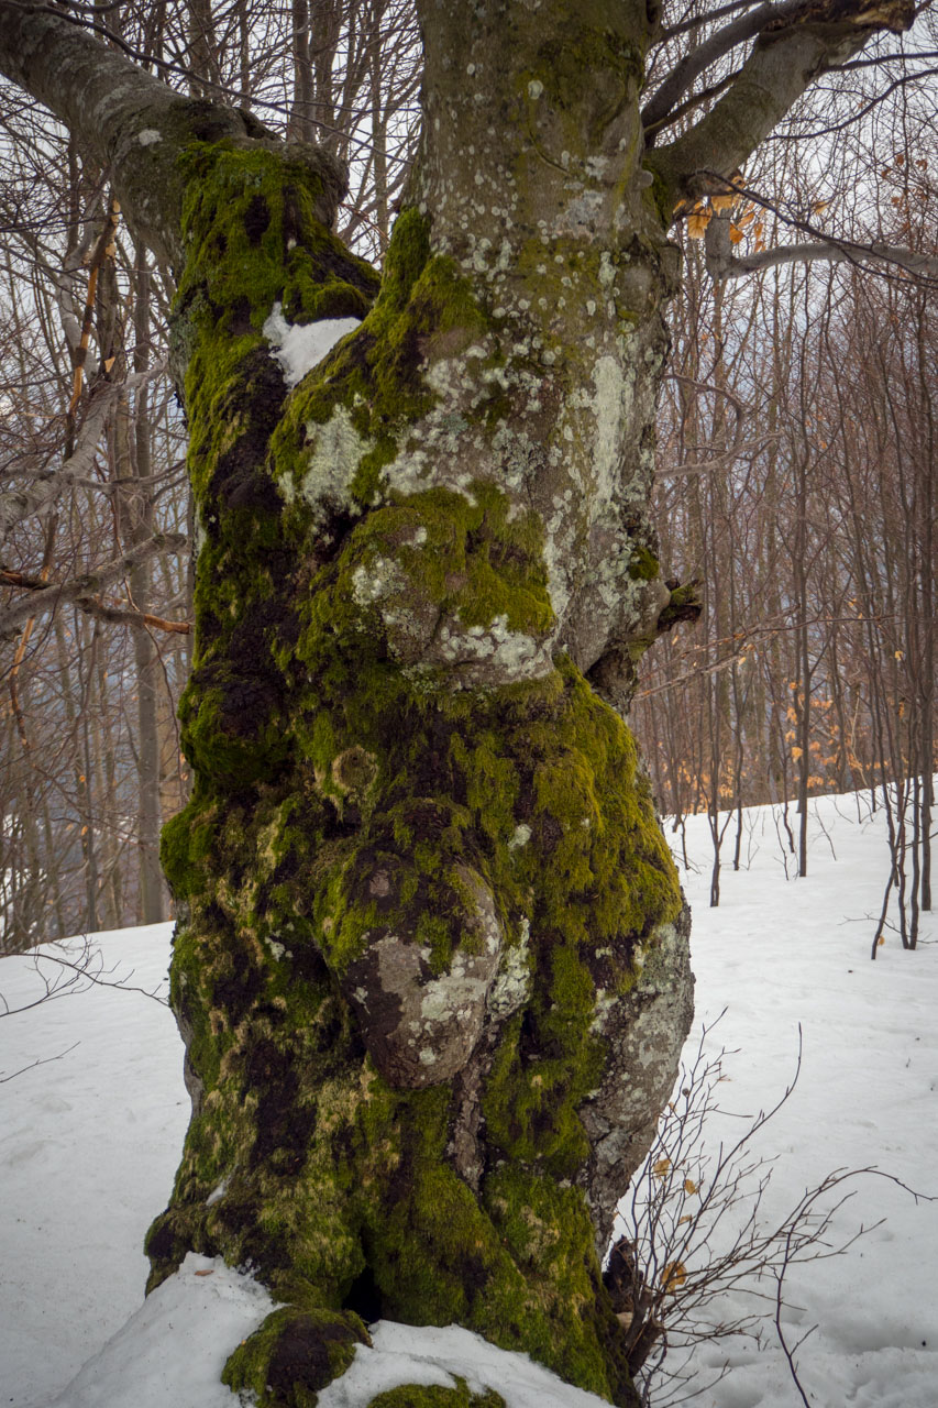
{"label": "white snow covering the ground on both sides of the trunk", "polygon": [[[861,807],[858,814],[855,798],[823,798],[815,812],[804,880],[786,879],[772,810],[748,814],[746,869],[724,869],[718,910],[707,908],[706,819],[687,825],[699,867],[686,876],[697,973],[689,1050],[696,1050],[700,1022],[727,1007],[710,1038],[713,1049],[738,1050],[724,1063],[730,1079],[720,1087],[721,1105],[752,1115],[773,1104],[793,1073],[803,1028],[797,1088],[756,1150],[777,1156],[763,1198],[766,1218],[783,1215],[838,1167],[876,1164],[938,1194],[937,926],[927,917],[930,942],[915,953],[904,953],[890,935],[870,963],[886,879],[882,812],[870,818]],[[96,936],[106,967],[117,966],[111,980],[132,969],[132,986],[155,987],[166,969],[169,932],[169,925],[154,925]],[[0,960],[0,993],[10,1007],[41,990],[31,959]],[[6,1079],[15,1071],[21,1074]],[[266,1293],[220,1262],[189,1257],[141,1309],[141,1242],[165,1205],[189,1112],[166,1008],[141,993],[90,987],[7,1017],[0,1021],[0,1404],[232,1402],[217,1383],[218,1369],[262,1319]],[[737,1128],[715,1121],[710,1139]],[[786,1281],[789,1338],[817,1325],[797,1356],[817,1408],[938,1404],[938,1204],[915,1205],[893,1184],[863,1178],[837,1214],[832,1240],[883,1217],[884,1225],[844,1257],[796,1267]],[[751,1308],[734,1297],[714,1314]],[[801,1402],[770,1326],[761,1346],[708,1343],[693,1364],[701,1371],[697,1387],[728,1366],[723,1381],[697,1400],[704,1408]],[[382,1324],[375,1349],[359,1352],[321,1405],[359,1408],[392,1381],[430,1381],[445,1366],[501,1393],[508,1385],[514,1408],[582,1408],[590,1401],[465,1331]],[[668,1394],[662,1384],[659,1401]]]}

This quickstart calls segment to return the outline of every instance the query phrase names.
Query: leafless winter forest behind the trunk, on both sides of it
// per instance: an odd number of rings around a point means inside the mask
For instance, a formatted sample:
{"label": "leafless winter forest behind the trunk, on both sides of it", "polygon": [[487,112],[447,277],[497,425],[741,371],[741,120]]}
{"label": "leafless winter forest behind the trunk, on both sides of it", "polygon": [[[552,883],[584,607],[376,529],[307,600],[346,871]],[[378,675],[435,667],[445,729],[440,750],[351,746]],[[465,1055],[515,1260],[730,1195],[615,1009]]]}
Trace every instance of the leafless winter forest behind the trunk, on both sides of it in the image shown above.
{"label": "leafless winter forest behind the trunk, on both sides of it", "polygon": [[[703,44],[728,8],[670,4],[670,42]],[[407,0],[121,3],[96,24],[180,90],[348,161],[341,234],[380,259],[418,113]],[[883,884],[910,945],[935,752],[937,46],[934,13],[876,39],[811,89],[735,199],[677,227],[656,517],[665,569],[700,579],[704,611],[649,652],[632,711],[662,812],[711,818],[713,903],[739,859],[734,808],[792,803],[803,873],[806,798],[894,781]],[[0,108],[0,952],[18,952],[170,914],[158,836],[189,787],[192,577],[169,270],[51,118],[10,87]],[[711,277],[710,221],[746,277]],[[838,237],[837,262],[773,259]],[[865,244],[911,258],[873,272]]]}

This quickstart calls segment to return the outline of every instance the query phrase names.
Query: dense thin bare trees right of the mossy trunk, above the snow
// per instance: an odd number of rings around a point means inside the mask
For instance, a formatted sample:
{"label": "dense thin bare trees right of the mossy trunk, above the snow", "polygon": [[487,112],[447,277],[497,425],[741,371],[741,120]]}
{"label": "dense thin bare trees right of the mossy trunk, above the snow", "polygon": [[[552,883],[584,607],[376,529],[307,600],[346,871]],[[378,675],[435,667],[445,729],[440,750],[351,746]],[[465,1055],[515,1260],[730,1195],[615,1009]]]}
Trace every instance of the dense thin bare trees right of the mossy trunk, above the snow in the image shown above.
{"label": "dense thin bare trees right of the mossy trunk, above the snow", "polygon": [[[810,797],[884,805],[914,946],[931,907],[938,149],[934,93],[901,93],[859,139],[831,120],[824,166],[779,142],[735,201],[687,222],[658,522],[706,610],[649,653],[632,722],[662,811],[710,817],[714,904],[742,807],[790,803],[780,845],[806,874]],[[773,259],[792,230],[846,225],[917,273],[855,246]],[[745,279],[720,277],[728,244],[753,255]]]}

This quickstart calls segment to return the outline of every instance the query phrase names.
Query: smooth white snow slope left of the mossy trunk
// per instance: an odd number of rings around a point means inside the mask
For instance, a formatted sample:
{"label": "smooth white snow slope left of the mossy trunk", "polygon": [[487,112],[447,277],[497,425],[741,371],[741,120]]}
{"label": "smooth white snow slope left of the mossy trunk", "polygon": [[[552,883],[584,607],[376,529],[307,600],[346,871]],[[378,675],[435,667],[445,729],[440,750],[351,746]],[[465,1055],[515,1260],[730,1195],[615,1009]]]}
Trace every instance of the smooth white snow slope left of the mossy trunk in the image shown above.
{"label": "smooth white snow slope left of the mossy trunk", "polygon": [[[152,990],[170,932],[96,935],[110,979]],[[0,960],[11,1008],[42,991],[31,959]],[[35,1060],[46,1064],[7,1079]],[[166,1205],[189,1095],[169,1011],[106,987],[1,1019],[0,1080],[0,1402],[20,1408],[66,1383],[139,1302],[142,1238]]]}

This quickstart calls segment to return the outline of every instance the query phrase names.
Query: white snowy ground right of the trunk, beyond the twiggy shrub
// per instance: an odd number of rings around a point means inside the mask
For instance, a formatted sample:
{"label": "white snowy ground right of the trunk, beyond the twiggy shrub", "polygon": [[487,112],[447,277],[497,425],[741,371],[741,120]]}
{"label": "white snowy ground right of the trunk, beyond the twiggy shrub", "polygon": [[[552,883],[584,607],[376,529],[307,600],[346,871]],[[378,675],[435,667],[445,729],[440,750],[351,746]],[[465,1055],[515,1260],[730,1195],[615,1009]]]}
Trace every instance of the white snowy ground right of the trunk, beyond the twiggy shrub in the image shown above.
{"label": "white snowy ground right of the trunk, beyond the twiggy shrub", "polygon": [[[793,1073],[803,1028],[797,1088],[758,1145],[779,1159],[765,1212],[786,1212],[841,1167],[875,1164],[938,1194],[938,925],[925,917],[928,942],[914,953],[887,934],[870,962],[887,862],[882,810],[870,818],[865,798],[859,808],[853,797],[818,800],[803,880],[786,880],[776,828],[773,808],[748,814],[749,869],[723,870],[720,908],[710,910],[707,822],[692,818],[689,852],[701,870],[684,879],[697,1022],[727,1005],[714,1042],[739,1052],[727,1060],[721,1102],[746,1114],[770,1105]],[[861,1224],[886,1224],[846,1256],[799,1267],[786,1283],[799,1307],[783,1316],[786,1338],[797,1342],[817,1325],[797,1356],[801,1383],[820,1408],[935,1408],[938,1204],[917,1205],[877,1178],[855,1188],[831,1240],[846,1240]],[[696,1362],[731,1366],[700,1400],[713,1408],[801,1402],[770,1333],[762,1352],[724,1342]]]}

